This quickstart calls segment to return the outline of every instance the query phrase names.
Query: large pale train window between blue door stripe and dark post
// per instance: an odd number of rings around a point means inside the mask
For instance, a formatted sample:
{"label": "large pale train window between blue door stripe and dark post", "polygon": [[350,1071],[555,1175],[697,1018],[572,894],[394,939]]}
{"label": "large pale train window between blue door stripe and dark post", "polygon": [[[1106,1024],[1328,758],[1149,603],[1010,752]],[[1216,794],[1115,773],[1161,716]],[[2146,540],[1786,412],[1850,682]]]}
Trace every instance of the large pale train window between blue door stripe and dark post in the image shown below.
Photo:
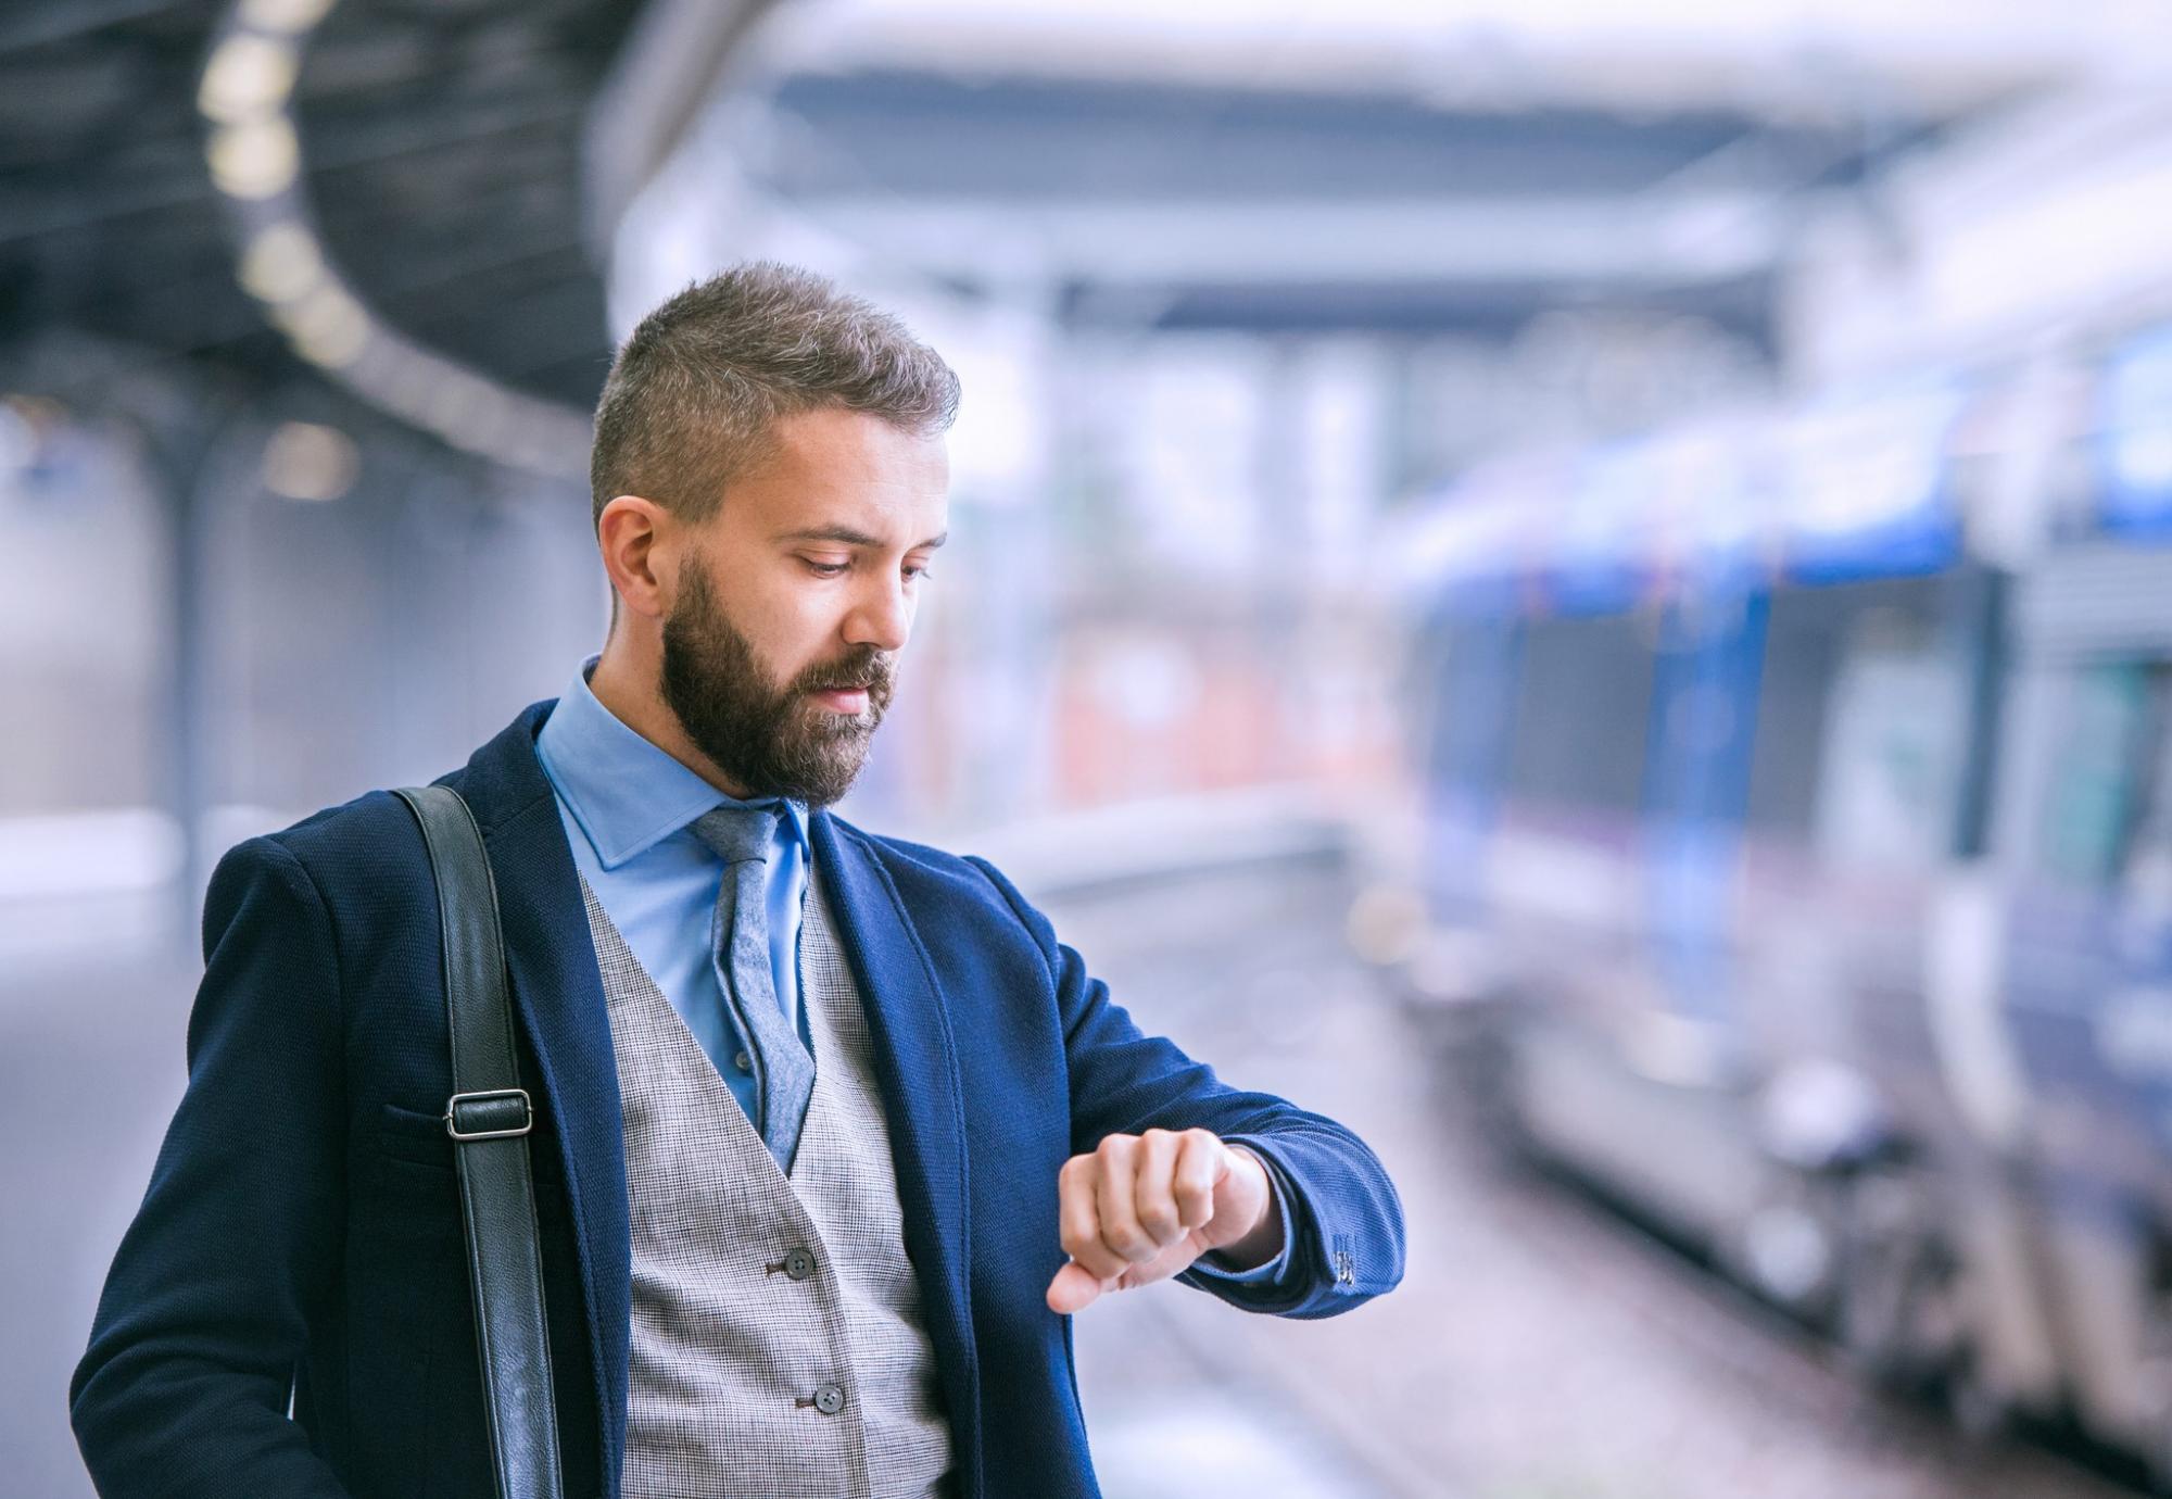
{"label": "large pale train window between blue door stripe and dark post", "polygon": [[1746,821],[1820,858],[1922,869],[1950,847],[1968,673],[1937,578],[1772,602]]}

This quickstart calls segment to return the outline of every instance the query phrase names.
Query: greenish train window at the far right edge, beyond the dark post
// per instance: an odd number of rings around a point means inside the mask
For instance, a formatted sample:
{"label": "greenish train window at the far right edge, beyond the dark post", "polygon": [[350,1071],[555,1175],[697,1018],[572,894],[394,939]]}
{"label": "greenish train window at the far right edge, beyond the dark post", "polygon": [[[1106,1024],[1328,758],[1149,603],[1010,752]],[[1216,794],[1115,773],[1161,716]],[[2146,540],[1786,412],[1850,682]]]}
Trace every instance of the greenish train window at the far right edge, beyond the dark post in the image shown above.
{"label": "greenish train window at the far right edge, beyond the dark post", "polygon": [[[2098,660],[2066,682],[2037,823],[2042,873],[2068,884],[2111,884],[2150,815],[2150,767],[2163,754],[2165,667]],[[2159,806],[2150,821],[2159,821]]]}

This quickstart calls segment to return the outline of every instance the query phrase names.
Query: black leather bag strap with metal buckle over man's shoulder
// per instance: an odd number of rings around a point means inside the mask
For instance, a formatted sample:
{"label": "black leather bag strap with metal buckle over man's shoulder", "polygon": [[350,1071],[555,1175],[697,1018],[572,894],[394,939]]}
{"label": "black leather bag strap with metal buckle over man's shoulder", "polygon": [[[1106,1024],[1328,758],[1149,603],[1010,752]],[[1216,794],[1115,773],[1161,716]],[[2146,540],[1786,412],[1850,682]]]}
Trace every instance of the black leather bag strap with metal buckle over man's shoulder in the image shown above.
{"label": "black leather bag strap with metal buckle over man's shoulder", "polygon": [[450,786],[395,793],[421,823],[445,939],[445,1019],[467,1280],[476,1295],[476,1353],[491,1427],[497,1499],[563,1499],[558,1412],[552,1406],[543,1323],[543,1251],[536,1234],[528,1132],[534,1104],[513,1054],[497,884],[467,802]]}

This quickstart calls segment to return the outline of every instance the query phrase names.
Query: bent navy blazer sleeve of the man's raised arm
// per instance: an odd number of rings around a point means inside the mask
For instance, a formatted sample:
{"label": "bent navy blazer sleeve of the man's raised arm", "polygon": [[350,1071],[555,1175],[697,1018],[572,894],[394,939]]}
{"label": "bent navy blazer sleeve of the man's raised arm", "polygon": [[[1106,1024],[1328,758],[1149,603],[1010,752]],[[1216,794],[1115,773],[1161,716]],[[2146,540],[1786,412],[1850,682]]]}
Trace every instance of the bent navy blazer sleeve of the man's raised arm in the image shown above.
{"label": "bent navy blazer sleeve of the man's raised arm", "polygon": [[971,862],[1049,965],[1071,1078],[1071,1151],[1090,1151],[1108,1134],[1212,1130],[1255,1149],[1277,1193],[1286,1191],[1295,1245],[1279,1277],[1245,1282],[1195,1267],[1179,1282],[1251,1312],[1336,1317],[1403,1280],[1403,1204],[1364,1141],[1271,1093],[1232,1088],[1175,1043],[1140,1032],[1077,952],[1056,941],[1049,919],[993,865]]}

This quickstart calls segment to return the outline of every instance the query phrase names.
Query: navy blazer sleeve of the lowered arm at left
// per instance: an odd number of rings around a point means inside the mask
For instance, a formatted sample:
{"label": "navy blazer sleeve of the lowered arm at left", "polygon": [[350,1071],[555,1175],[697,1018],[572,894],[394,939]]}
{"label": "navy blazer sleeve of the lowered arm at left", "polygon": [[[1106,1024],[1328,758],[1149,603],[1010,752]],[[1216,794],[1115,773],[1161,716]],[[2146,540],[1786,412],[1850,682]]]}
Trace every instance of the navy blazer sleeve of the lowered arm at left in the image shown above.
{"label": "navy blazer sleeve of the lowered arm at left", "polygon": [[343,1047],[332,923],[272,839],[204,897],[189,1084],[70,1382],[104,1499],[334,1499],[287,1416],[343,1232]]}

